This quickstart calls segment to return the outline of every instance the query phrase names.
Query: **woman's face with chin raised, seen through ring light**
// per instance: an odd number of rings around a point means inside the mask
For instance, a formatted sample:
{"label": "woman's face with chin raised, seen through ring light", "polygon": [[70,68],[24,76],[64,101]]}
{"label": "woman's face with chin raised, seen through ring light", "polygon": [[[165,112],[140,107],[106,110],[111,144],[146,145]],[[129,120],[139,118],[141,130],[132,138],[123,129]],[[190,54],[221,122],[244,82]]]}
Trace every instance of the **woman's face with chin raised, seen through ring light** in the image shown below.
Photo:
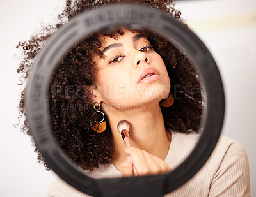
{"label": "woman's face with chin raised, seen through ring light", "polygon": [[[95,57],[97,89],[93,101],[106,107],[127,110],[159,101],[170,92],[170,79],[163,59],[150,42],[136,31],[123,29],[117,40],[104,36],[100,50],[104,58]],[[151,77],[145,75],[152,74]],[[141,77],[145,77],[141,80]]]}

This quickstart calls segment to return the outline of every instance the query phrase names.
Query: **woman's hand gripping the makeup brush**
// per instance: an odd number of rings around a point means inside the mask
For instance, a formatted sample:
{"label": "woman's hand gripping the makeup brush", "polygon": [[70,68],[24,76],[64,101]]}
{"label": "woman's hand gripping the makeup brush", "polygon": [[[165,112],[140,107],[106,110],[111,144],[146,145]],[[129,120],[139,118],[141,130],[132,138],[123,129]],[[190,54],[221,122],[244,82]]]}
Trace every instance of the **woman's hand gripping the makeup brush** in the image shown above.
{"label": "woman's hand gripping the makeup brush", "polygon": [[133,176],[133,166],[140,176],[156,175],[171,171],[171,167],[167,163],[145,150],[135,147],[126,147],[124,150],[129,156],[120,165],[122,177]]}

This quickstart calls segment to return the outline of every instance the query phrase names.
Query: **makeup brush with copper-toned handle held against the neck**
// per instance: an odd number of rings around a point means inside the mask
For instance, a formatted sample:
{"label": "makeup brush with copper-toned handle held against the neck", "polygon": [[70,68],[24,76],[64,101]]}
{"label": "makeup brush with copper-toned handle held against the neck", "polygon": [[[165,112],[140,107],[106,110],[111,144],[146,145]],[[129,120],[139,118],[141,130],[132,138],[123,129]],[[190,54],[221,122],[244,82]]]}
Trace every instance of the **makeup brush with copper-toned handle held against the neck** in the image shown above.
{"label": "makeup brush with copper-toned handle held against the neck", "polygon": [[[132,127],[131,122],[128,122],[127,120],[121,120],[117,124],[117,129],[119,133],[121,133],[122,138],[124,140],[124,146],[125,147],[132,147],[132,143],[129,137],[129,131]],[[138,176],[137,170],[133,166],[133,173],[135,176]]]}

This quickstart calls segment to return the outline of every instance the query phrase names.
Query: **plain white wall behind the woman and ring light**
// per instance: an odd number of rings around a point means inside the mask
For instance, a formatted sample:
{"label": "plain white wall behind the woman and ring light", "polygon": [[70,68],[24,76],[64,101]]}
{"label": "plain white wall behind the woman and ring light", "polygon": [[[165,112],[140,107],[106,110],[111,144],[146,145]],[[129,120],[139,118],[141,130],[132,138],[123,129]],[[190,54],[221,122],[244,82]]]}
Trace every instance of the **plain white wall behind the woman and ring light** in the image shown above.
{"label": "plain white wall behind the woman and ring light", "polygon": [[[56,18],[65,0],[10,0],[0,7],[0,196],[45,196],[56,179],[36,162],[28,136],[17,123],[20,87],[16,74],[19,41],[28,40]],[[256,196],[256,1],[179,1],[176,5],[191,29],[204,41],[223,78],[226,113],[223,135],[245,147],[250,161],[251,193]]]}

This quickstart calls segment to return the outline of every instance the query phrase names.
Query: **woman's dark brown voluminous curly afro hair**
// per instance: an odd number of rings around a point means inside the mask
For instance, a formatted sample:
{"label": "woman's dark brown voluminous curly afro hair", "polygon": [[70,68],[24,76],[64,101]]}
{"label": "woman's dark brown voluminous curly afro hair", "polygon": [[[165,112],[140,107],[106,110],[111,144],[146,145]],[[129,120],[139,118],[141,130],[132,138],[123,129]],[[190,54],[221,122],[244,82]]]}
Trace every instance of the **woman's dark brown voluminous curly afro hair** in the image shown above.
{"label": "woman's dark brown voluminous curly afro hair", "polygon": [[[184,24],[180,18],[180,11],[175,10],[174,3],[170,0],[67,0],[65,10],[58,15],[58,24],[44,27],[30,40],[19,42],[17,45],[17,48],[22,47],[24,50],[24,59],[17,69],[21,75],[20,85],[24,85],[19,103],[20,116],[24,117],[24,125],[21,126],[24,133],[30,135],[24,106],[26,82],[45,41],[59,27],[82,11],[111,3],[146,4],[165,11]],[[175,102],[169,108],[161,108],[166,129],[183,133],[198,132],[202,119],[202,84],[188,57],[156,33],[147,29],[136,31],[143,34],[154,46],[154,50],[161,55],[173,84],[171,92],[174,92]],[[99,167],[99,164],[111,163],[111,157],[115,152],[107,118],[106,131],[97,133],[92,130],[93,106],[89,102],[90,94],[86,87],[94,85],[97,75],[93,55],[102,54],[99,50],[102,45],[99,36],[117,38],[123,34],[122,27],[108,33],[90,34],[67,52],[52,75],[49,86],[49,110],[54,138],[67,156],[83,170],[92,171]],[[36,147],[35,152],[38,154],[38,161],[42,161],[49,170]]]}

